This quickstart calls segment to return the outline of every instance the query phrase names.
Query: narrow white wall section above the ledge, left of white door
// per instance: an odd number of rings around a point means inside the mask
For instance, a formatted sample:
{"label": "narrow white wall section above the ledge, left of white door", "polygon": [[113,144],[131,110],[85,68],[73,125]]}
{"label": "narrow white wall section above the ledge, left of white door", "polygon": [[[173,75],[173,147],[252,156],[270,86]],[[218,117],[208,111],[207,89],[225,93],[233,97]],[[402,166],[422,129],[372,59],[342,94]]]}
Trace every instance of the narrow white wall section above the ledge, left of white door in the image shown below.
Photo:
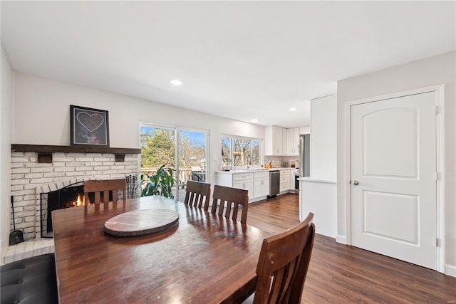
{"label": "narrow white wall section above the ledge, left of white door", "polygon": [[336,180],[337,97],[311,100],[311,172],[316,179]]}

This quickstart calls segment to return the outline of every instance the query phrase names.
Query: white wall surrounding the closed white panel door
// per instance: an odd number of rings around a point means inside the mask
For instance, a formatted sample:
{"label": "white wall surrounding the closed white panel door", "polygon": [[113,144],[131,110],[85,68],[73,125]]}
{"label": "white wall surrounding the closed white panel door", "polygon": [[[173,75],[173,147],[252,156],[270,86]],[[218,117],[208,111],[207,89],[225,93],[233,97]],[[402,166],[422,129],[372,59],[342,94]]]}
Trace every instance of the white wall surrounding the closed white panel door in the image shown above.
{"label": "white wall surrounding the closed white panel door", "polygon": [[456,52],[379,70],[375,73],[338,82],[337,148],[338,206],[337,234],[346,237],[346,172],[345,103],[379,95],[445,84],[445,272],[456,276]]}

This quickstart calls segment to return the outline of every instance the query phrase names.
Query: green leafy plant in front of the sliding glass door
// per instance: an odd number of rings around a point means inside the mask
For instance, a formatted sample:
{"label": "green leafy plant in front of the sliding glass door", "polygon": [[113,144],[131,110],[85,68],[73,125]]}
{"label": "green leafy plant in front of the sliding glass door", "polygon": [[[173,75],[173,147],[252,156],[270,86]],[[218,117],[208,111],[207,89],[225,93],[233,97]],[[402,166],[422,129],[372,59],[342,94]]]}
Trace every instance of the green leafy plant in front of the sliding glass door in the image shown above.
{"label": "green leafy plant in front of the sliding glass door", "polygon": [[174,199],[172,187],[177,182],[175,169],[163,164],[155,174],[140,173],[141,196],[162,195]]}

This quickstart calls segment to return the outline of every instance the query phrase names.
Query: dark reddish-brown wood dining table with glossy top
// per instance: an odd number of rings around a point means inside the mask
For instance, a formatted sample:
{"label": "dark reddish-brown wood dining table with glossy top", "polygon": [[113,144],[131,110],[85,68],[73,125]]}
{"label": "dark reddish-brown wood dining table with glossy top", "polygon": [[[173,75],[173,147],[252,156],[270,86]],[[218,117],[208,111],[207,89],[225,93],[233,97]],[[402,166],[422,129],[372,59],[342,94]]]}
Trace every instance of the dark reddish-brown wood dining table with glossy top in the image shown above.
{"label": "dark reddish-brown wood dining table with glossy top", "polygon": [[[138,209],[171,209],[167,231],[118,237],[105,221]],[[66,303],[237,303],[254,292],[270,234],[163,196],[53,211],[58,292]]]}

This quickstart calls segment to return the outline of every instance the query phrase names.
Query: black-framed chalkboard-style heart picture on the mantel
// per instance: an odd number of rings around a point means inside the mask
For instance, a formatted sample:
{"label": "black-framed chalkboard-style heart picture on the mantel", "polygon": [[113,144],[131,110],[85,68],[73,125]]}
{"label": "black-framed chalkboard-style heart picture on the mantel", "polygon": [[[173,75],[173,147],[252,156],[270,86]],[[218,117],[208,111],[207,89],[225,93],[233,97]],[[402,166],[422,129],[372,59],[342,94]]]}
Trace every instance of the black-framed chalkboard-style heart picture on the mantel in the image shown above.
{"label": "black-framed chalkboard-style heart picture on the mantel", "polygon": [[109,147],[108,111],[70,105],[71,146]]}

